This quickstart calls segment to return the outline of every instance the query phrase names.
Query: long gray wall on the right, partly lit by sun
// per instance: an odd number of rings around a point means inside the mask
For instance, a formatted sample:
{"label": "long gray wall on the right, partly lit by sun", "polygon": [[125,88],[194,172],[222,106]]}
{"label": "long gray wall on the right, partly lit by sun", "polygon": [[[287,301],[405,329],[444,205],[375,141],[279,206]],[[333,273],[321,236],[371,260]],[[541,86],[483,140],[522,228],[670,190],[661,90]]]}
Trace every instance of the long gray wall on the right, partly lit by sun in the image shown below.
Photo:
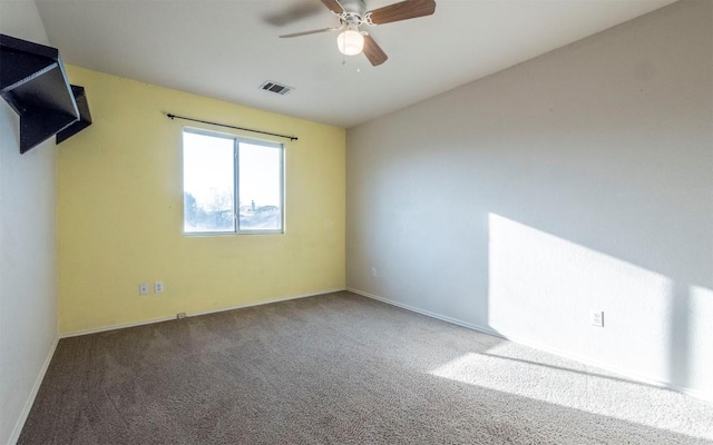
{"label": "long gray wall on the right, partly lit by sun", "polygon": [[348,287],[713,399],[712,58],[683,1],[349,130]]}

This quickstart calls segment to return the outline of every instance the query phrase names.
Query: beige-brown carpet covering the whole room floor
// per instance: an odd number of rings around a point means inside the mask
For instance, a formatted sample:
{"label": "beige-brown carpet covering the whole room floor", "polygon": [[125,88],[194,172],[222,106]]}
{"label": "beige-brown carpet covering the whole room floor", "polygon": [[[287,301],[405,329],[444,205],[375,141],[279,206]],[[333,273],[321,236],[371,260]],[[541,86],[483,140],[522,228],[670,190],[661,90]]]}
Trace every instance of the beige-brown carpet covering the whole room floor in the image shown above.
{"label": "beige-brown carpet covering the whole room floor", "polygon": [[713,406],[350,293],[59,343],[20,444],[713,444]]}

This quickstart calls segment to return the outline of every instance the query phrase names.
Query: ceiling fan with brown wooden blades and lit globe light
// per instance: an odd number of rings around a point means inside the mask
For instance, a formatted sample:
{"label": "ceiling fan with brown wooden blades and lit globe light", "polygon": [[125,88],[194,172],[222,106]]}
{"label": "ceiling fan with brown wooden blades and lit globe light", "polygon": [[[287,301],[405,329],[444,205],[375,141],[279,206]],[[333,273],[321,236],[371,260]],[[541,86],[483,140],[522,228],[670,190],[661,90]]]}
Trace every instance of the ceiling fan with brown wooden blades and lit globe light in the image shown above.
{"label": "ceiling fan with brown wooden blades and lit globe light", "polygon": [[369,36],[369,32],[360,31],[359,28],[362,24],[373,27],[430,16],[436,11],[434,0],[404,0],[372,11],[367,10],[365,0],[322,0],[322,3],[339,18],[339,27],[295,32],[280,37],[292,38],[320,32],[342,31],[336,38],[339,50],[345,56],[355,56],[363,52],[374,67],[385,62],[389,56]]}

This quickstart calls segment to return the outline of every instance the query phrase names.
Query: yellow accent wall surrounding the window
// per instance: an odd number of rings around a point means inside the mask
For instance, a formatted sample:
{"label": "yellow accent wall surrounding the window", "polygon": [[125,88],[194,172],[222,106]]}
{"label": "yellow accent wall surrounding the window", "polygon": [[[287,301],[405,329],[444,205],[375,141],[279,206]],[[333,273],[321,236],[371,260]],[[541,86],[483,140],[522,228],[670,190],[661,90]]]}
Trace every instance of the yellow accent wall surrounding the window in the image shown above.
{"label": "yellow accent wall surrounding the window", "polygon": [[[343,129],[67,71],[94,123],[58,146],[60,333],[344,288]],[[285,234],[183,235],[182,129],[212,127],[165,112],[300,138],[284,140]],[[155,280],[164,294],[138,295]]]}

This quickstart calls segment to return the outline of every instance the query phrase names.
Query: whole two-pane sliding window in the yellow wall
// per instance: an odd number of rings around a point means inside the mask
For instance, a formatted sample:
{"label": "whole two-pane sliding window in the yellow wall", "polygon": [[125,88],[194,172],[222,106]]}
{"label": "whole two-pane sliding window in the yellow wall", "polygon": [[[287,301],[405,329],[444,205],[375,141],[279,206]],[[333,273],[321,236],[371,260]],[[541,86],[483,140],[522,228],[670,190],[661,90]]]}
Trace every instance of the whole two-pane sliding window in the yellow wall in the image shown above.
{"label": "whole two-pane sliding window in the yellow wall", "polygon": [[183,131],[185,234],[282,234],[282,144]]}

